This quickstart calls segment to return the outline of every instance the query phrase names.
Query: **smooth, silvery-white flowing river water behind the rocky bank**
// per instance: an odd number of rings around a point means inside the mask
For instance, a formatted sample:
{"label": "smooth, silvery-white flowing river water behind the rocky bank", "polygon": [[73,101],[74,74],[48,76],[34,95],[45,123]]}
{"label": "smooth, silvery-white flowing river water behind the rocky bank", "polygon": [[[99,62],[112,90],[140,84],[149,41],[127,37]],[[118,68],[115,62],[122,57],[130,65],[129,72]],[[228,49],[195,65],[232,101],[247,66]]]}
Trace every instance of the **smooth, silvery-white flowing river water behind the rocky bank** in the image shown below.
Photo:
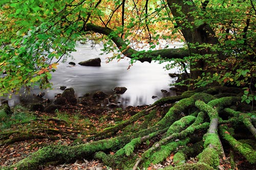
{"label": "smooth, silvery-white flowing river water behind the rocky bank", "polygon": [[[130,69],[127,69],[129,66],[128,58],[106,63],[106,57],[112,57],[113,54],[99,55],[102,53],[100,48],[98,44],[95,47],[91,47],[91,44],[78,44],[77,51],[71,54],[73,58],[68,58],[67,61],[59,63],[57,70],[53,72],[51,80],[53,89],[44,90],[46,92],[44,97],[53,99],[54,95],[62,93],[60,86],[74,88],[77,97],[98,90],[110,94],[113,93],[112,89],[114,87],[124,86],[127,90],[120,95],[119,102],[125,107],[153,104],[163,96],[176,95],[175,91],[169,90],[169,84],[173,83],[175,79],[168,76],[169,72],[177,72],[176,69],[167,71],[163,68],[166,63],[141,63],[139,61]],[[97,57],[101,59],[100,67],[78,64],[80,61]],[[68,64],[71,61],[75,62],[76,65]],[[162,93],[162,89],[168,92]],[[39,92],[40,90],[37,88],[32,90],[34,94]],[[158,98],[152,99],[153,95],[158,96]],[[30,96],[16,95],[9,100],[9,105],[14,106],[20,101],[31,102],[29,99],[31,99]]]}

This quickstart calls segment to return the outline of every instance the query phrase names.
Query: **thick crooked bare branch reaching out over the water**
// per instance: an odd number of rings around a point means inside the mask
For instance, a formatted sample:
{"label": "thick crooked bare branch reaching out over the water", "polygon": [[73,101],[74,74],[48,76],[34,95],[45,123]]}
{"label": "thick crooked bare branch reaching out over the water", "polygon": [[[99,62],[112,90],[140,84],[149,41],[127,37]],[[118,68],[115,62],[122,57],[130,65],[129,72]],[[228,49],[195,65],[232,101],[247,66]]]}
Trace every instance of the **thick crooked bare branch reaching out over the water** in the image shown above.
{"label": "thick crooked bare branch reaching out over the water", "polygon": [[86,32],[92,31],[95,33],[100,33],[108,36],[118,47],[122,47],[126,49],[122,51],[122,54],[124,56],[134,59],[136,54],[139,54],[140,57],[138,60],[141,62],[144,62],[144,61],[151,62],[152,60],[154,60],[154,58],[158,56],[160,56],[162,59],[175,59],[175,58],[183,59],[184,57],[189,56],[189,52],[185,48],[166,48],[166,49],[146,51],[146,52],[136,51],[133,48],[129,47],[129,45],[127,45],[120,36],[116,35],[116,33],[114,33],[112,29],[96,26],[96,25],[93,25],[92,23],[87,23],[84,28],[84,31]]}

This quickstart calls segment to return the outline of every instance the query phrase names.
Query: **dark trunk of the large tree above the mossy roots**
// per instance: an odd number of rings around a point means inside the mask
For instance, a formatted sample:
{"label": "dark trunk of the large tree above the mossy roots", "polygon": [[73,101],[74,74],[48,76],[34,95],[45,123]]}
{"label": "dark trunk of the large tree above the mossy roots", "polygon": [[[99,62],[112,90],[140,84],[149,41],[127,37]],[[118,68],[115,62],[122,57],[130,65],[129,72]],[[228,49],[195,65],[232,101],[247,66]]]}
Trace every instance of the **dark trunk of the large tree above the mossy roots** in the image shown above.
{"label": "dark trunk of the large tree above the mossy roots", "polygon": [[[202,22],[201,25],[195,25],[196,21],[200,18],[195,18],[191,13],[199,12],[192,0],[167,0],[170,11],[176,19],[177,26],[181,29],[181,32],[187,42],[189,53],[191,54],[215,54],[216,52],[210,52],[209,49],[200,50],[198,48],[191,48],[190,44],[193,43],[208,43],[208,44],[218,44],[219,41],[215,37],[215,32],[207,25],[207,23]],[[178,5],[178,6],[176,6]],[[180,20],[179,18],[184,18]],[[188,27],[187,22],[191,27]],[[198,79],[201,76],[203,70],[205,69],[206,63],[204,60],[199,60],[197,64],[190,65],[190,78]]]}

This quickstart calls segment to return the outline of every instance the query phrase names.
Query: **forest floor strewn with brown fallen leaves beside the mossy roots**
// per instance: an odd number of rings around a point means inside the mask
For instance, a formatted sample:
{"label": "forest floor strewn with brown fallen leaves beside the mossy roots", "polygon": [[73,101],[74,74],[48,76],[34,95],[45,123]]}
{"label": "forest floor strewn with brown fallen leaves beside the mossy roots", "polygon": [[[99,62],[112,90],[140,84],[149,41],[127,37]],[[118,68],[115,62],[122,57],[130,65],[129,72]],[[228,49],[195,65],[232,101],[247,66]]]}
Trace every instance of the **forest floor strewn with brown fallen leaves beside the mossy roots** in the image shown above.
{"label": "forest floor strewn with brown fallen leaves beside the mossy roots", "polygon": [[[24,107],[16,106],[13,114],[1,116],[0,114],[0,165],[12,165],[28,155],[47,145],[78,145],[94,141],[93,134],[105,128],[114,126],[120,121],[129,119],[132,115],[145,109],[147,106],[101,109],[100,112],[87,112],[82,105],[69,106],[66,109],[56,110],[55,113],[30,112]],[[164,108],[163,108],[164,109]],[[157,117],[163,116],[161,113]],[[154,121],[157,121],[154,120]],[[134,130],[142,124],[138,119],[130,127]],[[117,134],[125,133],[118,131]],[[97,140],[97,139],[95,139]],[[145,144],[149,148],[150,143]],[[146,148],[144,148],[146,149]],[[137,150],[143,153],[143,148]],[[110,152],[110,154],[115,154]],[[152,165],[147,169],[159,169],[173,164],[174,153],[161,164]],[[236,164],[241,164],[241,169],[246,168],[244,158],[238,158]],[[194,158],[189,161],[193,163]],[[1,167],[0,166],[0,167]],[[244,166],[245,168],[242,168]],[[223,169],[230,165],[223,164]],[[98,160],[76,160],[73,163],[56,164],[50,162],[40,166],[40,169],[112,169]],[[248,168],[249,169],[249,168]]]}

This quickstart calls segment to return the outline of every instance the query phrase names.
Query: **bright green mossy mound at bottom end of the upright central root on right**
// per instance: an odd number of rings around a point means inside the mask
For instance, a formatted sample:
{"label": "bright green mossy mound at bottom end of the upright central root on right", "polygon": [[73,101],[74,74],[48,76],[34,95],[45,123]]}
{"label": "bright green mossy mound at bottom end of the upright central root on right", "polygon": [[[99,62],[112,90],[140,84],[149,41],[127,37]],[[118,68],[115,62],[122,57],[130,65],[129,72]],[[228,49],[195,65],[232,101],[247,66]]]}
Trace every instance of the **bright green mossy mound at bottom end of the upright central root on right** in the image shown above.
{"label": "bright green mossy mound at bottom end of the upright central root on right", "polygon": [[220,164],[218,152],[214,148],[205,148],[203,152],[198,155],[199,162],[205,163],[217,169]]}

